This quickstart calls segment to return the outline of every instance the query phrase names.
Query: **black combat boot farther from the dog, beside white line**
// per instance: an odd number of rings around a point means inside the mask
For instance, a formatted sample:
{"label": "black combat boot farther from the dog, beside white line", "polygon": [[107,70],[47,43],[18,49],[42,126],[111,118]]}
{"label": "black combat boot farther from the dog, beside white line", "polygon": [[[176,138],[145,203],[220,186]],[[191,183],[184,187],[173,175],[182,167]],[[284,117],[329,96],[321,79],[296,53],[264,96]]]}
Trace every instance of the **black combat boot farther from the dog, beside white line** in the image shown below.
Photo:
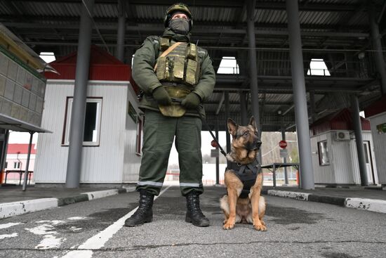
{"label": "black combat boot farther from the dog, beside white line", "polygon": [[125,226],[140,226],[153,220],[153,200],[154,195],[145,190],[140,190],[140,205],[138,209],[126,219]]}

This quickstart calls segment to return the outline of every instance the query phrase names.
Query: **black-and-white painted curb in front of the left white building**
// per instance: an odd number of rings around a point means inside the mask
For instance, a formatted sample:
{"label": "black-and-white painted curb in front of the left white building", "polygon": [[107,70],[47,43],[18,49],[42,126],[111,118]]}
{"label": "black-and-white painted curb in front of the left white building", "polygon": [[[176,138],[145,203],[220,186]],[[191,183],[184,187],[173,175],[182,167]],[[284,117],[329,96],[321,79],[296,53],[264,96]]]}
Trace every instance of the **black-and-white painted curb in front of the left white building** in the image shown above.
{"label": "black-and-white painted curb in front of the left white building", "polygon": [[41,198],[34,200],[25,200],[19,202],[6,202],[0,204],[0,219],[13,217],[21,214],[39,212],[44,209],[52,209],[64,205],[70,205],[75,202],[85,202],[88,200],[95,200],[105,198],[107,196],[117,195],[119,193],[129,193],[135,190],[135,187],[95,191],[88,193],[81,193],[65,198]]}

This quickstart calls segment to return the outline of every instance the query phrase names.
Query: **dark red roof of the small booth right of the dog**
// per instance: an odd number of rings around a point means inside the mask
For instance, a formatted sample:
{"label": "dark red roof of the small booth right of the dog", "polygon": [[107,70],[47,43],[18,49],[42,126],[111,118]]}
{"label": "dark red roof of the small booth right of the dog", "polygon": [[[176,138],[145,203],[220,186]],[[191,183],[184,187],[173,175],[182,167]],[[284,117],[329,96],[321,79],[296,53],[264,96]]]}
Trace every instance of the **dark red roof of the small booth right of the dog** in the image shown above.
{"label": "dark red roof of the small booth right of the dog", "polygon": [[[364,117],[361,117],[361,125],[362,130],[370,131],[370,122]],[[322,117],[311,125],[310,130],[312,135],[321,134],[324,131],[331,130],[354,130],[352,124],[352,112],[350,109],[345,108],[339,112]]]}

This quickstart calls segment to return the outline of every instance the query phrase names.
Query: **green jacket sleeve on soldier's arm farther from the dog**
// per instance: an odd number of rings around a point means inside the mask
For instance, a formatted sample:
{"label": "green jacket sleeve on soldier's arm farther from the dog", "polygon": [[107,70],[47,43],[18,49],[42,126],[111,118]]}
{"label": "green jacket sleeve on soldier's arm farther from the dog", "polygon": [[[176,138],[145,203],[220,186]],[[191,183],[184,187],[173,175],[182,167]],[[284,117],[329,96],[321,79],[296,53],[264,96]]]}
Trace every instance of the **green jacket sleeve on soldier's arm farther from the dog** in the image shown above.
{"label": "green jacket sleeve on soldier's arm farther from the dog", "polygon": [[135,51],[133,58],[133,79],[140,89],[148,95],[158,86],[162,85],[154,72],[154,65],[158,55],[158,44],[156,41],[158,41],[158,37],[147,37],[142,46]]}

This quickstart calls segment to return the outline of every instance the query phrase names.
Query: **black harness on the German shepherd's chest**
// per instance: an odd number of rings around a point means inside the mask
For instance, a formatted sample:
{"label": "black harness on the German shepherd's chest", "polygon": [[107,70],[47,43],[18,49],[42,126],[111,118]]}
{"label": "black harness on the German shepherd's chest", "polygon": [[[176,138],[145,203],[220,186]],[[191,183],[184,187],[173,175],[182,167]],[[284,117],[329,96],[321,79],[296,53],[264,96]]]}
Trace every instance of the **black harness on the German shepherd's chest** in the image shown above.
{"label": "black harness on the German shepherd's chest", "polygon": [[256,158],[253,162],[241,165],[239,162],[227,162],[227,169],[232,169],[240,179],[244,187],[239,198],[248,198],[251,187],[255,184],[258,174],[261,173],[261,165]]}

